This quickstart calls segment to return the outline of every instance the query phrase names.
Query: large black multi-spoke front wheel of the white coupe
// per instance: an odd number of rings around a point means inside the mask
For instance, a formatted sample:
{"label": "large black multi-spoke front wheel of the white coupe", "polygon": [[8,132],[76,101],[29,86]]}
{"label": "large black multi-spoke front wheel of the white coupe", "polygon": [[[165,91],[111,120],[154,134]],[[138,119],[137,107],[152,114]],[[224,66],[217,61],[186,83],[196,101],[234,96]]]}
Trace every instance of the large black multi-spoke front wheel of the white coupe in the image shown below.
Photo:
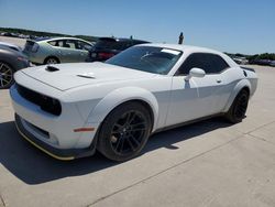
{"label": "large black multi-spoke front wheel of the white coupe", "polygon": [[112,161],[131,160],[142,151],[151,130],[151,116],[142,103],[135,101],[122,103],[102,122],[97,149]]}

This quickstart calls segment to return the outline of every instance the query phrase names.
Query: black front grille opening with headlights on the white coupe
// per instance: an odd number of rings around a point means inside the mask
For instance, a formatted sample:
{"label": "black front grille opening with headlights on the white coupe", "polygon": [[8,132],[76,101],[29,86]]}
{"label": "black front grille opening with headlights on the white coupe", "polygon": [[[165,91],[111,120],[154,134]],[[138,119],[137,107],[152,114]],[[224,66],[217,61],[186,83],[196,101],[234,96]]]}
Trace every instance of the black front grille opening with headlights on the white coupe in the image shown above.
{"label": "black front grille opening with headlights on the white coupe", "polygon": [[57,99],[33,91],[18,84],[15,86],[16,86],[18,92],[23,98],[40,106],[40,108],[43,111],[46,111],[55,116],[59,116],[62,113],[62,106]]}

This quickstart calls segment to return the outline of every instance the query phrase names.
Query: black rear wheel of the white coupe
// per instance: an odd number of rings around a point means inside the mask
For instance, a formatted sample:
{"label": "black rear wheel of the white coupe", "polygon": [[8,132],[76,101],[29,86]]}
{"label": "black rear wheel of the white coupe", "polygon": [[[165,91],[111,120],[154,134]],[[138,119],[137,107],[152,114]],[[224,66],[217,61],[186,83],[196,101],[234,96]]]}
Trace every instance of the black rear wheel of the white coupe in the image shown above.
{"label": "black rear wheel of the white coupe", "polygon": [[250,94],[246,89],[242,89],[235,97],[233,103],[231,105],[226,118],[231,123],[239,123],[245,118],[245,112],[248,109],[250,99]]}

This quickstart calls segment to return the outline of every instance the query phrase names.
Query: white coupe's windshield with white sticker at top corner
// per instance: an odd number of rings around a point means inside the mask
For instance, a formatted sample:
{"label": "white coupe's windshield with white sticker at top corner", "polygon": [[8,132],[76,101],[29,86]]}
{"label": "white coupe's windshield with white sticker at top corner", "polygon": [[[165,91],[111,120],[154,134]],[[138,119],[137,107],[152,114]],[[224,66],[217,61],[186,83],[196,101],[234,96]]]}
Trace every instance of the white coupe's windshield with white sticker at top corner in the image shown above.
{"label": "white coupe's windshield with white sticker at top corner", "polygon": [[148,72],[153,74],[168,74],[183,52],[154,46],[135,46],[113,56],[106,63]]}

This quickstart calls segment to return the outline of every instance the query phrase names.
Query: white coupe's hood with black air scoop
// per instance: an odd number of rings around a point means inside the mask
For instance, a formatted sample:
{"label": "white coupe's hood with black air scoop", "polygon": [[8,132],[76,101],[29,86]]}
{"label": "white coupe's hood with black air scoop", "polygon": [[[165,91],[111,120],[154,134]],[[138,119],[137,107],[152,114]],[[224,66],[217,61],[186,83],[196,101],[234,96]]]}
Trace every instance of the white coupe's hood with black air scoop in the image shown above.
{"label": "white coupe's hood with black air scoop", "polygon": [[105,63],[43,65],[21,70],[25,75],[59,90],[119,80],[150,78],[155,74]]}

